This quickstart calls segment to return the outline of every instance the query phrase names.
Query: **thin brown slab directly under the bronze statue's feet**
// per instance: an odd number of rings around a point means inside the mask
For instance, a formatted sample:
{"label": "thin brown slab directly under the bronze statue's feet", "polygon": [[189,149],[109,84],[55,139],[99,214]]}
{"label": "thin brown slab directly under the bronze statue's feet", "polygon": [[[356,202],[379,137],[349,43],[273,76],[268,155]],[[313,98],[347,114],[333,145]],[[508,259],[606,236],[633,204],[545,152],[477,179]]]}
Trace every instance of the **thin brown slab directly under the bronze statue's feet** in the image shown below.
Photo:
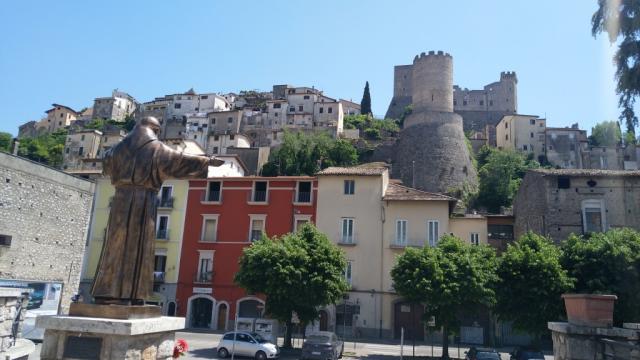
{"label": "thin brown slab directly under the bronze statue's feet", "polygon": [[108,319],[148,319],[162,316],[160,306],[71,303],[69,316]]}

